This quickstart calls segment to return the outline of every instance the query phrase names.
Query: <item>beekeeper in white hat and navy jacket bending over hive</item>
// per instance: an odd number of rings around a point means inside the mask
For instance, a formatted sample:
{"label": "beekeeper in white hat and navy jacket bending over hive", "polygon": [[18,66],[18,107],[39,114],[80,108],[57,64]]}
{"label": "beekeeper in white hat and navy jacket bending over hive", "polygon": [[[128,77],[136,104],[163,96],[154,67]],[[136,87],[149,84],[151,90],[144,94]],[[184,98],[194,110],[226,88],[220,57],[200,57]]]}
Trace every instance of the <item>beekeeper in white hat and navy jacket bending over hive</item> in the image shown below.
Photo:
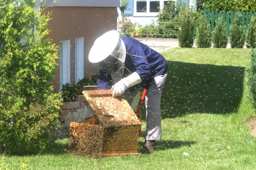
{"label": "beekeeper in white hat and navy jacket bending over hive", "polygon": [[123,95],[131,104],[141,87],[147,89],[145,145],[141,152],[155,150],[155,141],[162,137],[160,101],[168,70],[165,58],[140,41],[120,37],[112,30],[95,40],[89,61],[100,67],[97,90],[113,89],[113,97]]}

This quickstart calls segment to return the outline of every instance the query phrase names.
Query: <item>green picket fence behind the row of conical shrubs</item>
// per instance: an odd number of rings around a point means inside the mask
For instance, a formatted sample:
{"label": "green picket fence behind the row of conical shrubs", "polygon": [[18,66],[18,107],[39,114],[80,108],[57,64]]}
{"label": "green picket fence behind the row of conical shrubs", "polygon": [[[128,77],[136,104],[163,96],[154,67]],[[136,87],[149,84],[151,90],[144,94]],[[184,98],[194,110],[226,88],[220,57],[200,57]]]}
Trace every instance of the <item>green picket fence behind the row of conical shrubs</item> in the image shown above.
{"label": "green picket fence behind the row of conical shrubs", "polygon": [[[229,12],[229,11],[208,11],[204,9],[204,16],[207,16],[208,22],[212,26],[212,30],[214,29],[214,26],[216,25],[215,21],[218,20],[218,15],[222,16],[223,23],[226,22],[227,24],[227,36],[229,36],[229,27],[233,23],[234,16],[237,14],[237,12]],[[248,29],[249,21],[251,20],[252,16],[256,15],[256,12],[241,12],[241,18],[242,18],[242,25],[245,26],[245,32]]]}

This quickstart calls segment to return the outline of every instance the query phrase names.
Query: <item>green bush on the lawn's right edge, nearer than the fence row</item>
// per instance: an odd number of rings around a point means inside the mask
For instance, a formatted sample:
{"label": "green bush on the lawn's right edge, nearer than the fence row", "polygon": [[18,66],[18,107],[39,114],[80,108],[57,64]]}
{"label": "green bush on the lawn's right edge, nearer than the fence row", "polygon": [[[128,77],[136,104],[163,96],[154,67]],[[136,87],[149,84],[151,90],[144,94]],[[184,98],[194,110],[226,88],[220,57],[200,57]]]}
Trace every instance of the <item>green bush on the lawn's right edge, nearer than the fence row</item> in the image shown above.
{"label": "green bush on the lawn's right edge, nearer than the fence row", "polygon": [[256,113],[256,49],[251,50],[250,67],[246,71],[248,73],[249,99]]}

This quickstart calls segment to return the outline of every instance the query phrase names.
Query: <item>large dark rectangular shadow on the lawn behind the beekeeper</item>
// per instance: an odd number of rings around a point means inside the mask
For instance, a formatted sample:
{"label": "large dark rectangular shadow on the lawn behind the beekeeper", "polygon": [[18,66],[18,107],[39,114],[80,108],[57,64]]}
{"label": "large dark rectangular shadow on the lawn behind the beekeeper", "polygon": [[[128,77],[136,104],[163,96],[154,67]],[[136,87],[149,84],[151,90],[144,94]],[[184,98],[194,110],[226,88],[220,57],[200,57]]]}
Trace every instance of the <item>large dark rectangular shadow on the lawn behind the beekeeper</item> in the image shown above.
{"label": "large dark rectangular shadow on the lawn behind the beekeeper", "polygon": [[[161,98],[162,118],[191,113],[236,112],[243,95],[244,67],[168,61]],[[143,106],[142,119],[145,120]]]}

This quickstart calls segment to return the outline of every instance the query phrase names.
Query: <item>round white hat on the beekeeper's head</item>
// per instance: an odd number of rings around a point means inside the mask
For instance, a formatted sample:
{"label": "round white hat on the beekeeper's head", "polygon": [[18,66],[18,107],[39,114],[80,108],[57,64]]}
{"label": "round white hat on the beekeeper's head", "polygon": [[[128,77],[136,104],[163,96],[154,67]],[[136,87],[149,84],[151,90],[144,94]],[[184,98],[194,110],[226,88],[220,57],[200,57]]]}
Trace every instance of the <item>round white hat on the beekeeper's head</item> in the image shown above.
{"label": "round white hat on the beekeeper's head", "polygon": [[98,63],[106,59],[116,49],[117,46],[123,46],[120,44],[118,31],[111,30],[106,32],[95,40],[94,45],[91,47],[89,53],[89,61],[91,63]]}

